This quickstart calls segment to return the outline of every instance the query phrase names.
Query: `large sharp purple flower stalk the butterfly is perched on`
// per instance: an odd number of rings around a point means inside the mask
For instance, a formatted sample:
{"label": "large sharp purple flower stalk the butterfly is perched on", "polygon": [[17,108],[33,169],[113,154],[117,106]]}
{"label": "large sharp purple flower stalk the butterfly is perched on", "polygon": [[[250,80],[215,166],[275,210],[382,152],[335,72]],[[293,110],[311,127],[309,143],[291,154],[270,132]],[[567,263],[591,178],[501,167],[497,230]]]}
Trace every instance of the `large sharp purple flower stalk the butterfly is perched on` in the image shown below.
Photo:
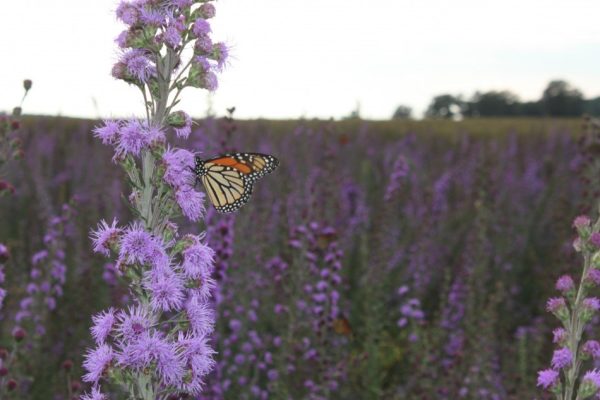
{"label": "large sharp purple flower stalk the butterfly is perched on", "polygon": [[105,121],[94,134],[115,149],[136,220],[102,221],[91,236],[95,252],[116,257],[132,303],[93,317],[96,347],[83,377],[93,387],[83,399],[105,399],[101,382],[136,400],[198,395],[214,365],[214,251],[204,235],[180,235],[173,222],[202,219],[204,194],[194,189],[194,153],[168,145],[167,133],[189,136],[191,118],[174,107],[186,87],[216,89],[227,47],[212,43],[215,8],[206,0],[123,1],[116,14],[128,29],[117,38],[123,54],[112,74],[140,90],[146,117]]}

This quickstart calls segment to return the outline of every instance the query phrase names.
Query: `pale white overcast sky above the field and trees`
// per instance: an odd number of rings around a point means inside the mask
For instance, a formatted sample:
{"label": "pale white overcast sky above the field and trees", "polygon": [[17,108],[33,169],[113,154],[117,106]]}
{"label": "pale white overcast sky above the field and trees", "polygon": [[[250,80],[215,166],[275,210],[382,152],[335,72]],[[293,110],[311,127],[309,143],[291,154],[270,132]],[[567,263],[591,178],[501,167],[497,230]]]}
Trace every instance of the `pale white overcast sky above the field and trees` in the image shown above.
{"label": "pale white overcast sky above the field and trees", "polygon": [[[124,29],[114,0],[2,1],[0,110],[140,115],[139,91],[110,76]],[[600,95],[598,0],[219,0],[213,40],[232,57],[219,89],[189,89],[196,117],[341,118],[360,107],[419,116],[433,96],[508,89],[535,100],[562,78]]]}

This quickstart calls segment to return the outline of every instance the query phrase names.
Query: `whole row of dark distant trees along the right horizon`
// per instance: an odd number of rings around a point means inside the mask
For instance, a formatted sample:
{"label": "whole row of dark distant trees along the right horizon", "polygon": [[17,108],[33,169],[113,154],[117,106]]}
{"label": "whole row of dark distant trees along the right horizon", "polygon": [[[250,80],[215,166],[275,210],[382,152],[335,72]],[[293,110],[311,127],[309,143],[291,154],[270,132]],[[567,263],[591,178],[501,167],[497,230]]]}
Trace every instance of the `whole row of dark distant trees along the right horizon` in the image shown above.
{"label": "whole row of dark distant trees along the right horizon", "polygon": [[[600,115],[600,97],[584,99],[577,88],[564,80],[551,81],[537,101],[520,101],[507,90],[475,92],[470,99],[462,95],[435,96],[427,111],[427,118],[470,117],[579,117],[583,114]],[[412,109],[401,105],[393,119],[411,118]]]}

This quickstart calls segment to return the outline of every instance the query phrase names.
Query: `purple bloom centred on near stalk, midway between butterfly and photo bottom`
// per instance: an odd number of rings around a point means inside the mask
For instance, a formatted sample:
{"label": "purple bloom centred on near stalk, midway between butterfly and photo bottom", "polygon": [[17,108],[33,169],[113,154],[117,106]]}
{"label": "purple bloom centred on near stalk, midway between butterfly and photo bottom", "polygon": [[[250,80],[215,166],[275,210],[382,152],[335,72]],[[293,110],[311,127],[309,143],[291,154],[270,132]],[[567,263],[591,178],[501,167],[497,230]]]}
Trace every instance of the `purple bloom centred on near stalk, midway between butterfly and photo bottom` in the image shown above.
{"label": "purple bloom centred on near stalk, midway between butterfly and photo bottom", "polygon": [[152,268],[146,274],[144,287],[151,294],[150,305],[154,311],[178,310],[183,306],[183,279],[168,266]]}

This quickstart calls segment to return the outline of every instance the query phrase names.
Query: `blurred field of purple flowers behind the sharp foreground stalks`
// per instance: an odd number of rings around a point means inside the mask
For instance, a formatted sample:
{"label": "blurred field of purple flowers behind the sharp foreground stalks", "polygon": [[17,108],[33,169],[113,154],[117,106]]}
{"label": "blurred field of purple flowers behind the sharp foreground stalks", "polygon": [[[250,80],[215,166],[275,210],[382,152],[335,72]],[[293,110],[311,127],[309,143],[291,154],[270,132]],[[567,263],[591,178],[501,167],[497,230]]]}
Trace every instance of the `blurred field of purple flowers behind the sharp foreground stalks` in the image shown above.
{"label": "blurred field of purple flowers behind the sharp foreground stalks", "polygon": [[[130,304],[89,239],[134,218],[97,125],[23,121],[0,198],[1,398],[89,390],[91,317]],[[209,118],[188,147],[281,162],[238,213],[177,220],[214,250],[215,364],[189,398],[550,398],[546,300],[580,270],[572,221],[597,198],[580,121]]]}

